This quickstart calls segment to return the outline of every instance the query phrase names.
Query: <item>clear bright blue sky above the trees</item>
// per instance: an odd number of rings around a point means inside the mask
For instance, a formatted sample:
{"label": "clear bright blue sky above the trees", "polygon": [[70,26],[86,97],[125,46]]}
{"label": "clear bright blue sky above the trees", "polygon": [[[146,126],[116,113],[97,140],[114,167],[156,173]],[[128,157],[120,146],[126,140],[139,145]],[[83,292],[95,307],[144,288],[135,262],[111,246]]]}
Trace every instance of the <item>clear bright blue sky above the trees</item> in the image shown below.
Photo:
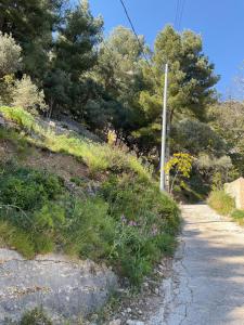
{"label": "clear bright blue sky above the trees", "polygon": [[[137,32],[153,46],[156,34],[174,23],[177,0],[124,0]],[[117,25],[128,26],[119,0],[90,0],[94,15],[102,14],[105,34]],[[181,29],[203,37],[204,52],[221,75],[217,89],[235,95],[233,78],[244,62],[244,0],[185,0]]]}

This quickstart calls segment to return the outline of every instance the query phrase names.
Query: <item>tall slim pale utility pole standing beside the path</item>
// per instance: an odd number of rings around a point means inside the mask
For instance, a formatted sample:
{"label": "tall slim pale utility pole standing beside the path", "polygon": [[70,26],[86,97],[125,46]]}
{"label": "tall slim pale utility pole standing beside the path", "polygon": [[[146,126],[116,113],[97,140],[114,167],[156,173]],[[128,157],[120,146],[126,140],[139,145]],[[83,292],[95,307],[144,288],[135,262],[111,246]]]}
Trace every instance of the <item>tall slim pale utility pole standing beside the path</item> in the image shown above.
{"label": "tall slim pale utility pole standing beside the path", "polygon": [[165,65],[164,104],[162,114],[162,151],[160,151],[160,191],[165,191],[165,162],[166,162],[166,135],[167,135],[167,88],[168,64]]}

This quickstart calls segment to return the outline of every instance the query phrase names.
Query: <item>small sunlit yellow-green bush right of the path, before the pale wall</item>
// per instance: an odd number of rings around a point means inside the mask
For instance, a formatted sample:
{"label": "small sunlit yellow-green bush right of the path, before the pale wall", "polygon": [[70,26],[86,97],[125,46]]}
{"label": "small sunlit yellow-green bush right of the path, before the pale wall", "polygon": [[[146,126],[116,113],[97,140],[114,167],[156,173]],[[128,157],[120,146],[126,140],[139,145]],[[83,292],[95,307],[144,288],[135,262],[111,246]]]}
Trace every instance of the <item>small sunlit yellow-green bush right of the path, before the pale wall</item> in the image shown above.
{"label": "small sunlit yellow-green bush right of the path, before the pale wall", "polygon": [[213,191],[208,197],[208,205],[220,214],[230,214],[234,209],[234,199],[224,191]]}

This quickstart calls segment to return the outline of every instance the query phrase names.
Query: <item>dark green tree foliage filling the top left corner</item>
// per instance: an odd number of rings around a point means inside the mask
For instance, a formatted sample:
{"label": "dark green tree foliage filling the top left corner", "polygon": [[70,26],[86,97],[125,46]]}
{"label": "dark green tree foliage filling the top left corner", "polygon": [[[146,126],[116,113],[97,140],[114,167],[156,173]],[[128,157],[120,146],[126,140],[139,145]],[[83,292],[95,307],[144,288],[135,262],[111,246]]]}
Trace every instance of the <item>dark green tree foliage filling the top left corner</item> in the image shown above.
{"label": "dark green tree foliage filling the top left corner", "polygon": [[22,0],[13,5],[11,0],[4,0],[4,10],[0,15],[1,29],[12,34],[22,47],[24,73],[34,79],[43,78],[48,69],[52,31],[61,22],[62,3],[62,0]]}

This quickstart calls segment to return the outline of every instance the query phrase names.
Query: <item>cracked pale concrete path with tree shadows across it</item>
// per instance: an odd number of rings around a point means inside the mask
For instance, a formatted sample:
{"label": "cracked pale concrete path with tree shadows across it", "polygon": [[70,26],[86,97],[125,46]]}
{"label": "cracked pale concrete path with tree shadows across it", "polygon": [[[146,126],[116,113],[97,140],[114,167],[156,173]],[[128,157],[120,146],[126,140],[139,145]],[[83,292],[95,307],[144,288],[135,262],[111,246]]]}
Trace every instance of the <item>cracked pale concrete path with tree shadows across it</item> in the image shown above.
{"label": "cracked pale concrete path with tree shadows across it", "polygon": [[146,324],[243,325],[244,230],[205,205],[182,206],[182,216],[172,275]]}

